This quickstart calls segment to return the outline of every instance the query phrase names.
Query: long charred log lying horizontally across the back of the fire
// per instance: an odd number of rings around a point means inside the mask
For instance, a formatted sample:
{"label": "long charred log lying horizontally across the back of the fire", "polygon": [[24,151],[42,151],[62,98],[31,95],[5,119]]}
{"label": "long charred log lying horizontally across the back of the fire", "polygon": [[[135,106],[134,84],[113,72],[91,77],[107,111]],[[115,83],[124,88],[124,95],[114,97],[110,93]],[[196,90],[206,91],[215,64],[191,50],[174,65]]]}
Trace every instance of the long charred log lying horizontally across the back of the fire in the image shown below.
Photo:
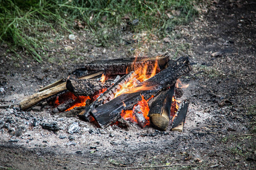
{"label": "long charred log lying horizontally across the back of the fire", "polygon": [[[93,61],[85,64],[84,67],[77,70],[87,70],[88,73],[98,70],[105,70],[106,75],[125,75],[131,71],[135,71],[140,67],[147,66],[147,74],[151,74],[154,70],[155,62],[157,62],[157,71],[164,69],[169,61],[169,57],[164,54],[158,57],[137,57],[137,58],[121,58],[106,61]],[[79,72],[76,71],[75,72]]]}

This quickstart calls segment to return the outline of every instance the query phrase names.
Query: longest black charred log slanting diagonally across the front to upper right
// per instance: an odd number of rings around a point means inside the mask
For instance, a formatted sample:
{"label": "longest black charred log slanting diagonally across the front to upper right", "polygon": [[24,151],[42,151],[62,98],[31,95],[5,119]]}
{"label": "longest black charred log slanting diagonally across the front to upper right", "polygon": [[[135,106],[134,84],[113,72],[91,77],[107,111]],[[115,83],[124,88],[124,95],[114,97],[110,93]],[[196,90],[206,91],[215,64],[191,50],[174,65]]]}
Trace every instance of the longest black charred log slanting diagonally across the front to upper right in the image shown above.
{"label": "longest black charred log slanting diagonally across the front to upper right", "polygon": [[[90,112],[98,124],[104,128],[117,121],[121,117],[120,113],[122,110],[126,110],[137,104],[138,101],[141,101],[141,96],[144,96],[146,100],[151,95],[156,96],[160,91],[173,86],[180,76],[187,74],[191,70],[192,67],[189,64],[188,57],[181,57],[167,67],[167,69],[140,83],[137,87],[141,88],[141,90],[138,92],[122,94],[108,103],[92,109]],[[146,88],[148,90],[143,90]]]}

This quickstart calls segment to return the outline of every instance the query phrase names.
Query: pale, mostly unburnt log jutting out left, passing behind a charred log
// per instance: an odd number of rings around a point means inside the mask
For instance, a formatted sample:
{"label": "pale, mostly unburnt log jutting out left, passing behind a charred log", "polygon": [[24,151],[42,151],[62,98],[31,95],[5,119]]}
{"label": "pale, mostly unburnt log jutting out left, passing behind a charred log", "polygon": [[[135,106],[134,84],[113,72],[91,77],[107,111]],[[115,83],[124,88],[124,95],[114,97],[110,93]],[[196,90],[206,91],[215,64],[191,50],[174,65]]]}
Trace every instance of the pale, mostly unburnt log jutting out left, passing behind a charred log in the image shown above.
{"label": "pale, mostly unburnt log jutting out left, passing behind a charred log", "polygon": [[[80,79],[91,79],[95,78],[99,75],[102,75],[104,71],[97,71],[96,73],[88,74],[85,76],[80,77]],[[44,91],[37,92],[31,96],[28,96],[26,99],[20,101],[19,105],[22,110],[26,110],[36,104],[38,104],[40,101],[43,101],[47,99],[48,97],[51,97],[52,95],[59,94],[60,92],[63,92],[67,90],[66,83],[58,84],[57,86],[48,88]]]}

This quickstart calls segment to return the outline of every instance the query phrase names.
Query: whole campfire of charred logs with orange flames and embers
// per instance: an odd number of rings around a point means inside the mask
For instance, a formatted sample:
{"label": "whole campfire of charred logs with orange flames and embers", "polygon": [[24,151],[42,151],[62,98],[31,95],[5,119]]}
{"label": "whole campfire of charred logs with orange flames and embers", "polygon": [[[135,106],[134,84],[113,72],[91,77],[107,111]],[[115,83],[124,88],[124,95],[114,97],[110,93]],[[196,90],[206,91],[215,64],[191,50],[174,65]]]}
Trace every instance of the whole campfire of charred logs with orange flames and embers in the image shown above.
{"label": "whole campfire of charred logs with orange flames and embers", "polygon": [[20,102],[25,110],[48,101],[53,113],[76,108],[82,120],[101,128],[122,121],[142,128],[182,131],[188,110],[179,78],[191,71],[187,57],[176,61],[167,55],[94,61]]}

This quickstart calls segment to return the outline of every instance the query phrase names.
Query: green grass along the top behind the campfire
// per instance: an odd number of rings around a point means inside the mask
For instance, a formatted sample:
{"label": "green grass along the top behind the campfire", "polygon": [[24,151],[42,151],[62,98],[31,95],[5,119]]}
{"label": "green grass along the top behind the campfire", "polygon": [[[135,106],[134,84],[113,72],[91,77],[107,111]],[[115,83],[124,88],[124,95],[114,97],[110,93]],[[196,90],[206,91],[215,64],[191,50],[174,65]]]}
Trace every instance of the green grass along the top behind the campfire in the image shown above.
{"label": "green grass along the top behind the campfire", "polygon": [[[105,45],[114,39],[124,26],[132,32],[147,30],[158,36],[172,31],[175,25],[184,24],[197,14],[192,0],[0,0],[0,43],[9,45],[15,52],[19,47],[42,61],[47,49],[44,41],[51,33],[68,33],[85,29]],[[132,24],[135,19],[139,22]],[[129,23],[129,24],[127,24]]]}

